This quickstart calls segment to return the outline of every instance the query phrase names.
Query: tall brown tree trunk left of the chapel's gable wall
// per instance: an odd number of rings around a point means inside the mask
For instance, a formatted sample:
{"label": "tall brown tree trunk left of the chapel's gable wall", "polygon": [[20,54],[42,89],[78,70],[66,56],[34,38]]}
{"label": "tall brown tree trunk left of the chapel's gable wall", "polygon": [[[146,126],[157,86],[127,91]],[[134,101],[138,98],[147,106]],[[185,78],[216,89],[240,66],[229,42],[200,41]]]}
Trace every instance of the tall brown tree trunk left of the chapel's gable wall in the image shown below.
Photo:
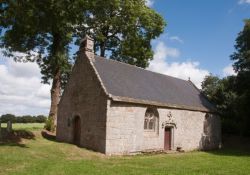
{"label": "tall brown tree trunk left of the chapel's gable wall", "polygon": [[50,90],[51,94],[51,105],[49,117],[52,120],[52,130],[55,130],[55,126],[57,124],[57,106],[60,100],[60,90],[61,90],[61,81],[60,81],[60,70],[57,68],[55,76],[53,78],[52,87]]}

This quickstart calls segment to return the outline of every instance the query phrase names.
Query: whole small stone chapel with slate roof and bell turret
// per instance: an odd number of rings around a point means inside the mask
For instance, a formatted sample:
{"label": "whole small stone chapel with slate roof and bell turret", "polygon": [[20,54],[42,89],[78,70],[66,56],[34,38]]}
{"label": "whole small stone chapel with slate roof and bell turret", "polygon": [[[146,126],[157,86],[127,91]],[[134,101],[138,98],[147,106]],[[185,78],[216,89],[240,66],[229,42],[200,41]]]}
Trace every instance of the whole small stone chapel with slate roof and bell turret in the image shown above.
{"label": "whole small stone chapel with slate roof and bell turret", "polygon": [[94,54],[85,37],[63,92],[58,141],[107,155],[219,148],[220,117],[191,81]]}

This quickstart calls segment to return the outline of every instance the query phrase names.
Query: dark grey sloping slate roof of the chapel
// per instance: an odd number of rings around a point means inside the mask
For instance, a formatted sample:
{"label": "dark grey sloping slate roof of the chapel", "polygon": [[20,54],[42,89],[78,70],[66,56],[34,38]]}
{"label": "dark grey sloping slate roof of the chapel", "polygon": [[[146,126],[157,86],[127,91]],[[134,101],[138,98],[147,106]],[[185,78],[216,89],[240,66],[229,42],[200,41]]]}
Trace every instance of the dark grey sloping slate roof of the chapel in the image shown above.
{"label": "dark grey sloping slate roof of the chapel", "polygon": [[214,106],[190,81],[99,56],[95,56],[93,65],[105,90],[115,101],[215,111]]}

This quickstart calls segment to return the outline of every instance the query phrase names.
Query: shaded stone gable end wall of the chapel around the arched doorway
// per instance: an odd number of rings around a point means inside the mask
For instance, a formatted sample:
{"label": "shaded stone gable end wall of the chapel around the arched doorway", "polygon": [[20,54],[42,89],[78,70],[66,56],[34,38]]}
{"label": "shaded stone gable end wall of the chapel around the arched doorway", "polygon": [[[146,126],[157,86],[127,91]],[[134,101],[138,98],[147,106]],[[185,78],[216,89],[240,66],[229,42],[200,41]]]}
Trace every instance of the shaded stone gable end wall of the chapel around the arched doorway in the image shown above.
{"label": "shaded stone gable end wall of the chapel around the arched doorway", "polygon": [[86,56],[77,59],[58,108],[57,140],[73,142],[73,121],[81,120],[80,146],[105,153],[107,97]]}

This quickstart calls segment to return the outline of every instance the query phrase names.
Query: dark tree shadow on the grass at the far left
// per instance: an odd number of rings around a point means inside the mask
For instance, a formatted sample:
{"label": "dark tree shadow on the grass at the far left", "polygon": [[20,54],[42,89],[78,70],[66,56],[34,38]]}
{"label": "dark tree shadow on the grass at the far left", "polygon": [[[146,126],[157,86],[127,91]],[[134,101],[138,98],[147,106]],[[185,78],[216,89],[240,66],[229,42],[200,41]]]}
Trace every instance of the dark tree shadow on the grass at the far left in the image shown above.
{"label": "dark tree shadow on the grass at the far left", "polygon": [[22,148],[28,148],[22,143],[22,139],[34,140],[35,135],[31,131],[24,129],[13,130],[11,132],[7,132],[6,128],[1,129],[0,146],[19,146]]}

